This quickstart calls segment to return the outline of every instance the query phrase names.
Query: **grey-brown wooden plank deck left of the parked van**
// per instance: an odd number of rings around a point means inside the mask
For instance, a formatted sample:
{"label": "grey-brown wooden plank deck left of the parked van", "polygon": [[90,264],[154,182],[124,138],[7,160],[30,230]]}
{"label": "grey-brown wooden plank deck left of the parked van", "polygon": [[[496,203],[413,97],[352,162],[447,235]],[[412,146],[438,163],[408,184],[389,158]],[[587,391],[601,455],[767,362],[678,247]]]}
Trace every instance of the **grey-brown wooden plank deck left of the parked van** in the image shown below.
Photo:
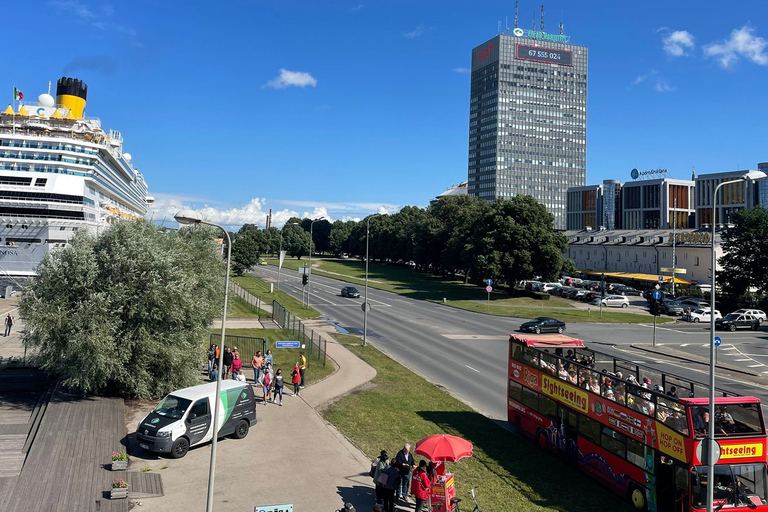
{"label": "grey-brown wooden plank deck left of the parked van", "polygon": [[162,495],[158,474],[109,469],[112,451],[124,449],[123,407],[120,399],[81,398],[56,389],[43,409],[21,474],[0,478],[3,510],[127,512],[129,500],[108,498],[113,478],[126,480],[132,496]]}

